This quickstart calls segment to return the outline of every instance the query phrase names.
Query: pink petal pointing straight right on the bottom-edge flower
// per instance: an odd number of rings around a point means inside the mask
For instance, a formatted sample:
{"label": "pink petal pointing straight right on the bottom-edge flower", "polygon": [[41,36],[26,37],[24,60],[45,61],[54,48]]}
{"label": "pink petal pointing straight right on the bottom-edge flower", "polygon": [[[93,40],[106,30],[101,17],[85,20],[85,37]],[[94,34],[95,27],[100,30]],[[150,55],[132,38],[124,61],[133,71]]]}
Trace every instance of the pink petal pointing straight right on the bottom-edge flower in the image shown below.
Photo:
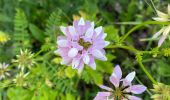
{"label": "pink petal pointing straight right on the bottom-edge flower", "polygon": [[125,89],[126,92],[131,92],[134,94],[141,94],[146,91],[146,87],[144,85],[132,85]]}

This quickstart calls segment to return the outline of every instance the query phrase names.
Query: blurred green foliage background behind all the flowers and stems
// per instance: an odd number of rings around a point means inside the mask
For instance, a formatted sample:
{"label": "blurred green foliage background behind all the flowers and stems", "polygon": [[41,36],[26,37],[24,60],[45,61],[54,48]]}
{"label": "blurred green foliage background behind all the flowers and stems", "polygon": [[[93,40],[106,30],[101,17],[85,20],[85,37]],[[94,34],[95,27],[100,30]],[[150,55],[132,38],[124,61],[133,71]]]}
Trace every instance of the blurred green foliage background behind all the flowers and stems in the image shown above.
{"label": "blurred green foliage background behind all the flowers and stems", "polygon": [[[157,9],[166,11],[170,1],[154,0],[153,3]],[[71,25],[80,17],[103,26],[108,34],[106,40],[114,44],[133,26],[151,21],[154,16],[150,0],[0,0],[0,31],[9,37],[6,43],[0,44],[0,62],[11,64],[11,77],[0,81],[0,100],[92,100],[101,91],[97,85],[111,86],[108,78],[115,64],[121,65],[124,76],[135,70],[134,83],[141,82],[151,89],[152,83],[127,50],[106,49],[108,61],[96,61],[96,71],[87,67],[81,75],[71,67],[60,65],[60,57],[53,51],[57,36],[62,35],[59,26]],[[124,43],[139,50],[151,50],[157,42],[140,40],[152,37],[160,28],[160,25],[142,27]],[[168,39],[163,47],[169,46]],[[33,58],[36,64],[27,70],[30,73],[24,80],[27,86],[13,83],[19,70],[11,61],[20,49],[33,53],[43,51]],[[145,55],[143,59],[157,81],[170,84],[168,57]],[[139,96],[150,100],[150,92]]]}

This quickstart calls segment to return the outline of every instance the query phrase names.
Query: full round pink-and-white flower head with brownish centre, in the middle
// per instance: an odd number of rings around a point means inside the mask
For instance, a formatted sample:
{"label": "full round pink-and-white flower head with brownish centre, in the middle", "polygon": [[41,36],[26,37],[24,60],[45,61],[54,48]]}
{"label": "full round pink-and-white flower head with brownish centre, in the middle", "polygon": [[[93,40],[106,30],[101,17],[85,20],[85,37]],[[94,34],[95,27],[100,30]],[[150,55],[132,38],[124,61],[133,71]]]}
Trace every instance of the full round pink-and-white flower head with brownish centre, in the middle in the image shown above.
{"label": "full round pink-and-white flower head with brownish centre, in the middle", "polygon": [[95,59],[107,60],[104,47],[109,42],[104,40],[107,34],[102,26],[94,28],[94,22],[80,18],[73,22],[73,26],[60,26],[60,29],[65,35],[57,39],[56,53],[62,57],[61,64],[72,65],[81,72],[84,64],[96,69]]}

